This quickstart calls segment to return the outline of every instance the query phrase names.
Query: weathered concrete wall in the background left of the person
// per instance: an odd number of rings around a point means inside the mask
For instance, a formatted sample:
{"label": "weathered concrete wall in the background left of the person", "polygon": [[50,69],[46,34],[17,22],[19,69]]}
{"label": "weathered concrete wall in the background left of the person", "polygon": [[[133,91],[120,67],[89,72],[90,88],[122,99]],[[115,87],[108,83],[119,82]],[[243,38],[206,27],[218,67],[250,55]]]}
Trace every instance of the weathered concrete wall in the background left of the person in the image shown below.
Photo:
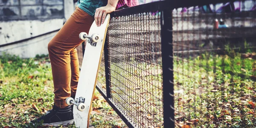
{"label": "weathered concrete wall in the background left of the person", "polygon": [[73,0],[20,0],[18,4],[18,0],[0,0],[0,55],[48,54],[49,41],[74,11]]}

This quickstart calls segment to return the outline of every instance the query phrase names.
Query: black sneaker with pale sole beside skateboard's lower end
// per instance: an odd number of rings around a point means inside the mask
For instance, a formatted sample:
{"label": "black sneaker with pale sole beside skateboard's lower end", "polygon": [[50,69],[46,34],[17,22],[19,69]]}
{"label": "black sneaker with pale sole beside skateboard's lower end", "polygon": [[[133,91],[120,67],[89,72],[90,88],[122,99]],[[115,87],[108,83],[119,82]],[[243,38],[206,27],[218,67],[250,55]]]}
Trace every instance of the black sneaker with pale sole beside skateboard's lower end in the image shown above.
{"label": "black sneaker with pale sole beside skateboard's lower end", "polygon": [[71,107],[67,106],[66,108],[58,108],[56,105],[53,105],[52,110],[44,116],[36,120],[33,120],[32,123],[41,122],[42,125],[49,125],[57,127],[58,125],[72,125],[74,123],[73,112]]}

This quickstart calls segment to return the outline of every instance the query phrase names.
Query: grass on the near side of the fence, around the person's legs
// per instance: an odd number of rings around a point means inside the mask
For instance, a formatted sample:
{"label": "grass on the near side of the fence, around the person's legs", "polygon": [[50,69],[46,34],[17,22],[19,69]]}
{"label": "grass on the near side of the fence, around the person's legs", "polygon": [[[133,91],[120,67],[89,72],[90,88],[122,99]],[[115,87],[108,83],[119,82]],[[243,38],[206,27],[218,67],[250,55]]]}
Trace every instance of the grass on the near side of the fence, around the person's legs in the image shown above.
{"label": "grass on the near side of the fence, around the person's legs", "polygon": [[[0,127],[32,127],[29,122],[52,109],[52,71],[47,55],[22,59],[15,55],[0,56]],[[124,128],[125,124],[95,92],[90,119],[95,128]],[[38,128],[41,124],[36,125]],[[75,128],[75,125],[60,126]],[[32,127],[34,128],[34,127]]]}

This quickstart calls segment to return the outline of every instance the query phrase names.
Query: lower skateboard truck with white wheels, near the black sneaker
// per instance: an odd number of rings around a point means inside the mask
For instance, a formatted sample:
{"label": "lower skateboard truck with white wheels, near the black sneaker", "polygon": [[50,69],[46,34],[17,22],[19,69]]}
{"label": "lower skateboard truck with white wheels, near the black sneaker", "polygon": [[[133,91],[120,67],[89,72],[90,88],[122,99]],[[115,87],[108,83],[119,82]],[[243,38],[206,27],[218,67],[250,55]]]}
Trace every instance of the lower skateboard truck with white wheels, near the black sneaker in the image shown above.
{"label": "lower skateboard truck with white wheels, near the black sneaker", "polygon": [[68,97],[66,99],[67,105],[76,105],[76,108],[79,111],[84,111],[85,110],[84,101],[85,101],[85,98],[83,98],[83,97],[76,98],[75,100],[72,97]]}

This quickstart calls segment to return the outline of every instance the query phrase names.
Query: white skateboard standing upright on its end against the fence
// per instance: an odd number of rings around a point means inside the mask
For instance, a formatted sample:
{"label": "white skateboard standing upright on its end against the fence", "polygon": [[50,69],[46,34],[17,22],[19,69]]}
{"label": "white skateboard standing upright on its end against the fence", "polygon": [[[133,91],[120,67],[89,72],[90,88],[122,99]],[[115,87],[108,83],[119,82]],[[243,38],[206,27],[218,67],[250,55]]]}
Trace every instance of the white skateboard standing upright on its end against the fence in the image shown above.
{"label": "white skateboard standing upright on its end against the fence", "polygon": [[73,105],[74,121],[77,128],[88,128],[89,126],[91,105],[109,20],[110,15],[108,14],[101,26],[98,27],[95,21],[93,22],[88,35],[86,32],[79,34],[81,40],[87,40],[87,45],[84,50],[75,99],[72,97],[66,99],[67,105]]}

